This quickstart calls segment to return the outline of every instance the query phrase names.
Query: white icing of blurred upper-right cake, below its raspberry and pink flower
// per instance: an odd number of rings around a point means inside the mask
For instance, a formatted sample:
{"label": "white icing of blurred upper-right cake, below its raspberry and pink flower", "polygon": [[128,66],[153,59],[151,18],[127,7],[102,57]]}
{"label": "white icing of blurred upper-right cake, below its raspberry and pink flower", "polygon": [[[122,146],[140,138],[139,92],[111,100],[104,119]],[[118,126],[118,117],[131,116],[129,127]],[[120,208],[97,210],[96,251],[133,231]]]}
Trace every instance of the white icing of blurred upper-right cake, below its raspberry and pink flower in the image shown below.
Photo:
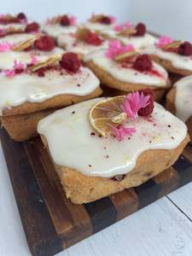
{"label": "white icing of blurred upper-right cake, below its raspberry and pink flower", "polygon": [[156,41],[156,38],[154,38],[152,35],[149,35],[148,33],[145,33],[143,37],[122,37],[117,34],[113,29],[108,29],[102,31],[103,34],[108,35],[110,38],[118,39],[121,43],[127,45],[127,44],[133,44],[134,48],[136,49],[142,49],[144,47],[148,47],[149,45],[153,45]]}

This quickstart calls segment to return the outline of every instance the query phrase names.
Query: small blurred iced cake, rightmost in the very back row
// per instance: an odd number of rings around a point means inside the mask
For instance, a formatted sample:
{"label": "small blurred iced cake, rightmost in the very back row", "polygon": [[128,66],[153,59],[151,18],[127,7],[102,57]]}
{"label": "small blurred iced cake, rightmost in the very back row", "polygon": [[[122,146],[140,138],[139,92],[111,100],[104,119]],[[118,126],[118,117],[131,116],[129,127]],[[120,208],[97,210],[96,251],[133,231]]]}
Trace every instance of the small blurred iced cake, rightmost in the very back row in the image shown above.
{"label": "small blurred iced cake, rightmost in the very back row", "polygon": [[101,32],[108,28],[111,28],[116,23],[116,18],[111,15],[92,15],[90,19],[83,23],[82,26],[96,31]]}

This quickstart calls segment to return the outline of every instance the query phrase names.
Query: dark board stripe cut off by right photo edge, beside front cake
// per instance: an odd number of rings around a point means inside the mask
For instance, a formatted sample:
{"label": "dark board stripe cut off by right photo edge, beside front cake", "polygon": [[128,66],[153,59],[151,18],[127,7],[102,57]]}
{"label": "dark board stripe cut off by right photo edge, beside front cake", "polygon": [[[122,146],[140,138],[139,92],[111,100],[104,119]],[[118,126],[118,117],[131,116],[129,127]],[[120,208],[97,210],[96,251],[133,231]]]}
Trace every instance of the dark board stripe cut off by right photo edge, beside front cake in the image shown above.
{"label": "dark board stripe cut off by right photo edge, beside front cake", "polygon": [[173,168],[178,173],[178,185],[177,188],[189,183],[192,180],[192,165],[191,162],[181,155],[177,162],[173,165]]}

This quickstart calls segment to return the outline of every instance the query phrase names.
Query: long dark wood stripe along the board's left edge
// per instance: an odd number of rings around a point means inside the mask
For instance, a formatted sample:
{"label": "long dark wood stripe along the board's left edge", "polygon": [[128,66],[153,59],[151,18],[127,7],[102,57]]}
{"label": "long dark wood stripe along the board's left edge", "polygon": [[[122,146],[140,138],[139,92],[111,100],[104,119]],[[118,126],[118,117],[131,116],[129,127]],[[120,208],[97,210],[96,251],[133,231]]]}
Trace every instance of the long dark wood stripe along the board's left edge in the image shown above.
{"label": "long dark wood stripe along the board's left edge", "polygon": [[53,255],[60,252],[61,241],[56,235],[23,143],[15,143],[3,129],[0,136],[20,218],[32,254]]}

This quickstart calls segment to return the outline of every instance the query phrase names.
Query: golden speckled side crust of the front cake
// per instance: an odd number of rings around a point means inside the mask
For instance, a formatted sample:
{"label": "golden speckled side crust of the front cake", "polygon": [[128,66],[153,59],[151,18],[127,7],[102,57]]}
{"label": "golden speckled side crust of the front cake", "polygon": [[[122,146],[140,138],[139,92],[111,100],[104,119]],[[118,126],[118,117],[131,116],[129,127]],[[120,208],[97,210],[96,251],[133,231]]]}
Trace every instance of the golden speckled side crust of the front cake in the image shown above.
{"label": "golden speckled side crust of the front cake", "polygon": [[[41,136],[45,147],[47,141]],[[102,197],[114,194],[123,189],[136,187],[149,178],[166,170],[177,160],[185,145],[189,143],[187,135],[177,148],[172,150],[146,150],[137,158],[137,165],[122,181],[114,181],[107,177],[89,177],[65,166],[55,166],[61,185],[69,198],[75,204],[96,201]],[[49,151],[49,149],[48,149]]]}

